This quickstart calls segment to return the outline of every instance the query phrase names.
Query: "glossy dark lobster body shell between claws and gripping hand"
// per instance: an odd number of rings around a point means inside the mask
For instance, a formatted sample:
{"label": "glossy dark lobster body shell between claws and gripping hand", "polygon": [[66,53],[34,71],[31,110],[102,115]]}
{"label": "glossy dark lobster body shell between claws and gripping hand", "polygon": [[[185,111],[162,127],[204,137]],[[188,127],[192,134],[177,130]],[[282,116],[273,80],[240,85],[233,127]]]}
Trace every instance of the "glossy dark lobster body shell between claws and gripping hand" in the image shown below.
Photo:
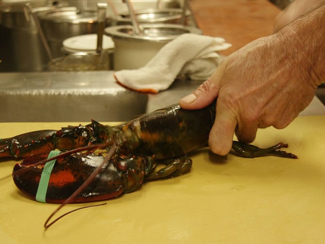
{"label": "glossy dark lobster body shell between claws and gripping hand", "polygon": [[130,121],[117,138],[124,138],[127,143],[123,146],[131,152],[155,155],[156,159],[179,157],[208,146],[214,118],[215,105],[191,111],[174,105]]}

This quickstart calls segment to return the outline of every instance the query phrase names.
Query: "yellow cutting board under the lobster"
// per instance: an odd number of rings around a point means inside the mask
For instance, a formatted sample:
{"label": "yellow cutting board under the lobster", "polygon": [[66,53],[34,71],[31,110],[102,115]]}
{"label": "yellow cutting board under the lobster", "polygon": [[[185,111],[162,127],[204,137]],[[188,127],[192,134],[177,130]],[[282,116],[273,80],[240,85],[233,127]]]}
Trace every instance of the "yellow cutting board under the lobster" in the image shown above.
{"label": "yellow cutting board under the lobster", "polygon": [[[1,123],[2,138],[65,123]],[[0,163],[1,243],[324,243],[325,116],[298,117],[284,130],[258,131],[255,145],[285,142],[299,159],[244,159],[192,153],[191,173],[75,211],[48,230],[57,208],[21,194],[14,161]],[[62,212],[90,204],[71,204]]]}

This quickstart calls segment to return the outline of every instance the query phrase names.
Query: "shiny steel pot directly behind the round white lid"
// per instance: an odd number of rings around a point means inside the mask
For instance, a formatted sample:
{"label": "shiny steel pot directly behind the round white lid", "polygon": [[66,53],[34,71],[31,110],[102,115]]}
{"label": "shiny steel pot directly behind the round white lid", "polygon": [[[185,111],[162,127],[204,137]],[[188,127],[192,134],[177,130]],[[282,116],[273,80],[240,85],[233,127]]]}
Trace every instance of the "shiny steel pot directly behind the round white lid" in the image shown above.
{"label": "shiny steel pot directly behind the round white lid", "polygon": [[[62,42],[72,36],[97,33],[97,12],[60,8],[38,15],[53,58],[64,55]],[[106,19],[105,26],[110,20]]]}

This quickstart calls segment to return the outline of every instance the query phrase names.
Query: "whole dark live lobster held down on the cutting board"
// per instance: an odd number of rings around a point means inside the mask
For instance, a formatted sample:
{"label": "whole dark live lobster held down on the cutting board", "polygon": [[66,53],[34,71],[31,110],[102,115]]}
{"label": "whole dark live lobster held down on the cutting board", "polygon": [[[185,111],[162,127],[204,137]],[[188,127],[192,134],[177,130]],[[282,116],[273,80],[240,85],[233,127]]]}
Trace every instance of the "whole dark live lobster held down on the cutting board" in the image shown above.
{"label": "whole dark live lobster held down on the cutting board", "polygon": [[[49,203],[64,202],[99,167],[94,179],[70,202],[104,200],[136,191],[145,181],[188,173],[192,160],[187,153],[208,146],[214,119],[215,101],[199,110],[183,110],[179,105],[172,105],[118,126],[92,120],[86,126],[39,130],[2,139],[0,158],[23,158],[14,166],[13,179],[18,189],[36,200],[45,166],[56,160],[48,172],[43,199]],[[114,152],[107,155],[112,145]],[[264,149],[237,141],[232,145],[242,157],[296,158],[280,150],[282,147],[288,145],[278,143]],[[59,150],[60,154],[47,159],[52,150]],[[161,163],[164,166],[158,169]]]}

